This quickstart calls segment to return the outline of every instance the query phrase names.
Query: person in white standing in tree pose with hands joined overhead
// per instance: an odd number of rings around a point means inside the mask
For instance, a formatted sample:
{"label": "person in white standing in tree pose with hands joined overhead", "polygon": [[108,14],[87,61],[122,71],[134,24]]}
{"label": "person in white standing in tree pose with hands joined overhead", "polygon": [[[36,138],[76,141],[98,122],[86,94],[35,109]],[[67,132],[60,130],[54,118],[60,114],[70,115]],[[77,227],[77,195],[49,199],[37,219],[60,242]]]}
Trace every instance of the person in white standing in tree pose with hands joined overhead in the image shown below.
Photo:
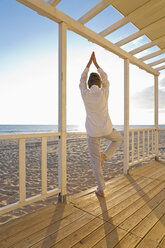
{"label": "person in white standing in tree pose with hands joined overhead", "polygon": [[[87,82],[89,68],[92,64],[98,73],[91,73]],[[88,87],[87,87],[88,86]],[[105,181],[102,168],[106,158],[111,159],[116,149],[122,143],[122,136],[113,129],[108,113],[109,81],[107,74],[100,68],[93,52],[80,79],[80,91],[86,109],[86,131],[88,149],[91,157],[94,175],[98,184],[96,195],[104,197]],[[100,139],[110,140],[103,154],[100,154]]]}

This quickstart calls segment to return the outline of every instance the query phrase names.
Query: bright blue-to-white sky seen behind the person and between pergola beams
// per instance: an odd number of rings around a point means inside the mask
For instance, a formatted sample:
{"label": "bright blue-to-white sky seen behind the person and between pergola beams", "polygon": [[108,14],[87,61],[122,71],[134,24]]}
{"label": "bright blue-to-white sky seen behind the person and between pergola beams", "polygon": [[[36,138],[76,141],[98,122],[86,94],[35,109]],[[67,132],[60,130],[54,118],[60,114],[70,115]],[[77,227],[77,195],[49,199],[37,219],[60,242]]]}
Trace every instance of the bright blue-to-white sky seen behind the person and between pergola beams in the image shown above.
{"label": "bright blue-to-white sky seen behind the person and between pergola beams", "polygon": [[[79,19],[98,2],[62,0],[57,8]],[[16,0],[1,0],[0,11],[0,124],[57,124],[58,24]],[[121,18],[122,15],[110,6],[85,25],[100,32]],[[128,23],[106,38],[115,43],[136,31],[137,28]],[[130,51],[147,42],[149,39],[143,36],[122,48]],[[148,52],[157,50],[155,46]],[[112,122],[122,125],[123,60],[71,31],[67,31],[67,124],[84,128],[85,109],[79,80],[92,51],[110,81]],[[93,65],[90,71],[96,71]],[[159,123],[165,124],[165,71],[159,76]],[[130,124],[154,124],[154,76],[134,65],[130,65]]]}

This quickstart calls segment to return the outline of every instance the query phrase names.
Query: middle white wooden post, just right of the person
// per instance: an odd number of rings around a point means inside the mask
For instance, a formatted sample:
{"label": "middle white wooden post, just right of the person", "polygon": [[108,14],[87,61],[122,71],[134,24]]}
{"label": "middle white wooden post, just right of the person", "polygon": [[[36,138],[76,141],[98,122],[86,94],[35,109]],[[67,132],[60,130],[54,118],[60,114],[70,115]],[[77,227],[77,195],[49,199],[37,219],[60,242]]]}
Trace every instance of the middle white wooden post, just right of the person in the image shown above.
{"label": "middle white wooden post, just right of the person", "polygon": [[124,174],[129,164],[129,60],[124,59]]}

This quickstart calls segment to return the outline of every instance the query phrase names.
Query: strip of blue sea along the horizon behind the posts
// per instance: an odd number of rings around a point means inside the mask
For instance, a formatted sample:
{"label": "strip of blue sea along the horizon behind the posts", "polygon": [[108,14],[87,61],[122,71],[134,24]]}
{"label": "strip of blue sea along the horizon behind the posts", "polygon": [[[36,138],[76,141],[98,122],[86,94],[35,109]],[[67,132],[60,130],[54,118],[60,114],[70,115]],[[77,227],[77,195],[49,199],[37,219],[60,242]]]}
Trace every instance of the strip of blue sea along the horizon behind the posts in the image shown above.
{"label": "strip of blue sea along the horizon behind the posts", "polygon": [[[153,125],[130,125],[132,128],[152,128]],[[124,130],[123,125],[114,125],[119,131]],[[165,128],[160,125],[159,128]],[[53,133],[58,132],[58,125],[0,125],[0,135],[29,134],[29,133]],[[67,132],[85,132],[85,127],[79,125],[67,125]]]}

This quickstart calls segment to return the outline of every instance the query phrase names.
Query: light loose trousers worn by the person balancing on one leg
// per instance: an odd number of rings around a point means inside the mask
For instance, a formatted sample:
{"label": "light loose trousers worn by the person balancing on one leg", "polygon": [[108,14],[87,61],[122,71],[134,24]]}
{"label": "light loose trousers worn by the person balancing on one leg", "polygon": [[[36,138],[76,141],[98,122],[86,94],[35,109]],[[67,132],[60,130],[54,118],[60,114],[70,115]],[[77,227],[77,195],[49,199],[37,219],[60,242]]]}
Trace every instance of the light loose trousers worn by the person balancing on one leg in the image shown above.
{"label": "light loose trousers worn by the person balancing on one leg", "polygon": [[104,152],[108,159],[111,159],[116,149],[120,146],[123,140],[120,132],[116,131],[116,129],[113,129],[111,134],[103,137],[91,137],[88,135],[88,149],[93,166],[93,172],[98,184],[98,190],[105,189],[105,181],[102,173],[100,157],[100,139],[102,138],[110,140],[110,143]]}

